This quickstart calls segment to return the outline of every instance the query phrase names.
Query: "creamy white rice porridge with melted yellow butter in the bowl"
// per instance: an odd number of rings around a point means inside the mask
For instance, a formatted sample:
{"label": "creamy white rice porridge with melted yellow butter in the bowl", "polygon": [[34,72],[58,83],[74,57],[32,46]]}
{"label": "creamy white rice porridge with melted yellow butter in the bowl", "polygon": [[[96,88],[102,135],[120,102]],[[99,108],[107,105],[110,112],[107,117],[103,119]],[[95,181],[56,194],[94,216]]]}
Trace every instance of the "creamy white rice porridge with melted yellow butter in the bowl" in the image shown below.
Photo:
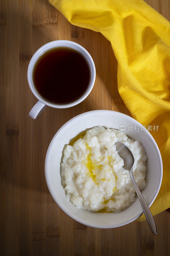
{"label": "creamy white rice porridge with melted yellow butter in the bowl", "polygon": [[146,153],[139,141],[115,129],[94,127],[76,137],[64,150],[61,180],[66,198],[77,208],[121,212],[135,201],[129,171],[123,168],[115,142],[124,143],[135,158],[133,177],[145,188]]}

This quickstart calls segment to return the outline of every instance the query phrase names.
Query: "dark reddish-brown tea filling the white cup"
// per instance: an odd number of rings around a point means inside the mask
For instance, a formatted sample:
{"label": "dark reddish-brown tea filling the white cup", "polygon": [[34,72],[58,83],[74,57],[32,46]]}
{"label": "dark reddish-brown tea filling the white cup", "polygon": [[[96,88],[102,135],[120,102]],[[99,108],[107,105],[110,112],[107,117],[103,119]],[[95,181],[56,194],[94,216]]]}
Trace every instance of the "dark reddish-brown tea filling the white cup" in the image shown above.
{"label": "dark reddish-brown tea filling the white cup", "polygon": [[91,72],[85,57],[69,47],[44,52],[33,69],[33,83],[40,96],[54,104],[68,104],[83,96]]}

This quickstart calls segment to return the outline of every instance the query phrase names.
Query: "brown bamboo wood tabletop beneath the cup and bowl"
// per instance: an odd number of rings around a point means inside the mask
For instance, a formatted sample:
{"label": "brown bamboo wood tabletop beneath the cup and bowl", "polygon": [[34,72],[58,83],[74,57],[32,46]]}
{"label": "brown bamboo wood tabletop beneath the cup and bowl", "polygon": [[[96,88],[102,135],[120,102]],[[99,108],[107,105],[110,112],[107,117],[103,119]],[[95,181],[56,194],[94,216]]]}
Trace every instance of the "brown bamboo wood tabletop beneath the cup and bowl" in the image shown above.
{"label": "brown bamboo wood tabletop beneath the cup and bowl", "polygon": [[[148,0],[170,19],[169,0]],[[3,255],[168,255],[169,214],[114,229],[90,228],[70,219],[49,194],[44,161],[57,130],[94,109],[130,115],[117,90],[117,61],[100,33],[72,26],[48,0],[1,0],[1,242]],[[57,39],[81,44],[92,55],[96,82],[88,98],[69,109],[28,113],[37,99],[27,83],[33,53]],[[170,253],[170,248],[169,248]]]}

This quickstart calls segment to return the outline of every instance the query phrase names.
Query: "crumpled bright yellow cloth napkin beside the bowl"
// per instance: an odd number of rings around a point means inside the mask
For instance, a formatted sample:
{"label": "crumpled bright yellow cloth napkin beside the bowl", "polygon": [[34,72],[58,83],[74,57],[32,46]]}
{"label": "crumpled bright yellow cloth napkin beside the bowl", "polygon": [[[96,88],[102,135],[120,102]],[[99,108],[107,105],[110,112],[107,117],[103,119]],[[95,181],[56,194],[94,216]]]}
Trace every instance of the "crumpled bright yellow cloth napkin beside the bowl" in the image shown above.
{"label": "crumpled bright yellow cloth napkin beside the bowl", "polygon": [[[161,152],[163,180],[150,209],[153,215],[166,210],[170,207],[170,22],[143,0],[49,2],[71,24],[99,31],[111,42],[123,101],[146,128],[159,126],[151,133]],[[144,215],[138,220],[145,220]]]}

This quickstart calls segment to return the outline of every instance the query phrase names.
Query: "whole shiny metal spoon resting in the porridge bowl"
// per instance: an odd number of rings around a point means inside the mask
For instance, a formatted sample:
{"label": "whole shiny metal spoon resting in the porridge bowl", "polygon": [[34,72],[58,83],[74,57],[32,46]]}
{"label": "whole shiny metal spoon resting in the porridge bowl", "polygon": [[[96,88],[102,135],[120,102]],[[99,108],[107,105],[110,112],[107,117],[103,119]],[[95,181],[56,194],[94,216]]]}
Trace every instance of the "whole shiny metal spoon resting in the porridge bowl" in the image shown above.
{"label": "whole shiny metal spoon resting in the porridge bowl", "polygon": [[129,171],[130,179],[131,179],[131,181],[133,183],[133,186],[136,190],[137,196],[139,198],[140,204],[141,204],[142,209],[144,211],[144,215],[145,215],[146,220],[149,224],[149,227],[151,228],[152,233],[154,235],[156,235],[157,234],[157,229],[156,229],[156,225],[155,225],[155,222],[153,220],[153,217],[152,217],[152,213],[149,210],[149,207],[146,204],[146,201],[144,200],[144,197],[142,196],[142,194],[141,194],[139,188],[137,187],[137,184],[136,184],[136,182],[133,178],[132,169],[133,169],[133,165],[134,165],[134,162],[135,162],[134,156],[133,156],[132,152],[130,151],[130,149],[128,147],[126,147],[123,143],[116,142],[115,146],[116,146],[116,150],[117,150],[119,156],[121,158],[123,158],[123,160],[124,160],[124,169]]}

